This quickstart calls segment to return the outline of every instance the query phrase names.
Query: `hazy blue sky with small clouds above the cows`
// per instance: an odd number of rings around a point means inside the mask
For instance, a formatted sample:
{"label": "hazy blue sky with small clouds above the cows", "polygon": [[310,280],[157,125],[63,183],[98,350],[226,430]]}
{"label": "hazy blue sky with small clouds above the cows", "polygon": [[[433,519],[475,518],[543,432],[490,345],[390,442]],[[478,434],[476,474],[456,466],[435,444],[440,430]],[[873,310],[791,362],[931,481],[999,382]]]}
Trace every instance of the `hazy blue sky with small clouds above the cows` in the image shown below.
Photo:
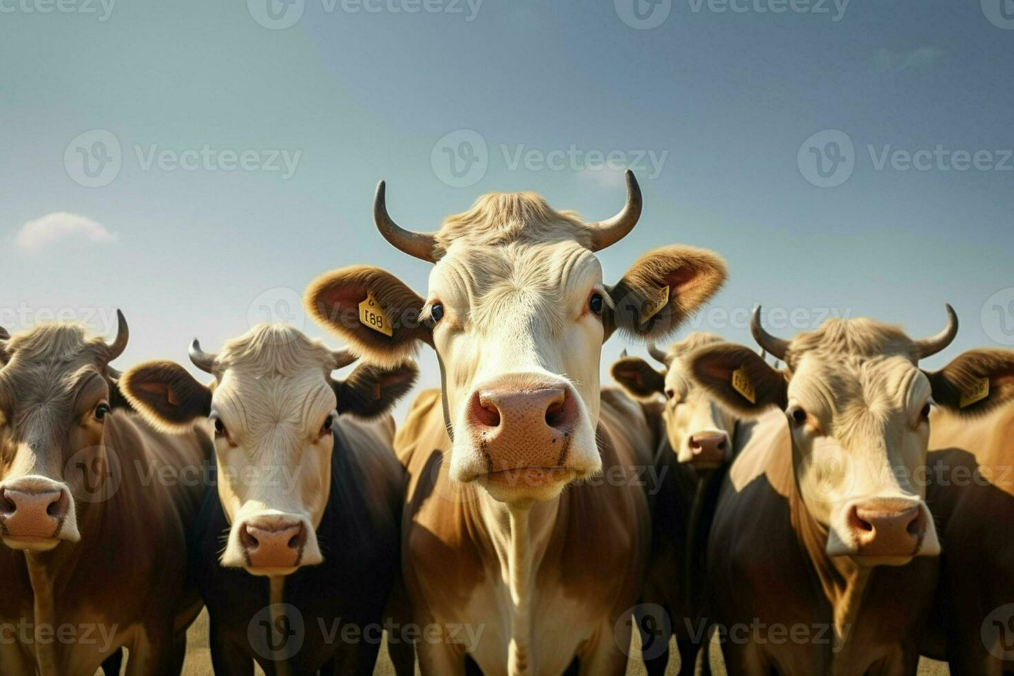
{"label": "hazy blue sky with small clouds above the cows", "polygon": [[748,343],[763,303],[786,335],[835,313],[923,334],[951,302],[931,366],[1014,345],[1014,0],[654,2],[0,0],[0,324],[112,330],[121,307],[121,366],[186,362],[195,335],[302,322],[334,268],[425,290],[372,226],[380,178],[417,229],[489,191],[598,219],[611,157],[646,207],[607,281],[662,244],[720,252],[697,327]]}

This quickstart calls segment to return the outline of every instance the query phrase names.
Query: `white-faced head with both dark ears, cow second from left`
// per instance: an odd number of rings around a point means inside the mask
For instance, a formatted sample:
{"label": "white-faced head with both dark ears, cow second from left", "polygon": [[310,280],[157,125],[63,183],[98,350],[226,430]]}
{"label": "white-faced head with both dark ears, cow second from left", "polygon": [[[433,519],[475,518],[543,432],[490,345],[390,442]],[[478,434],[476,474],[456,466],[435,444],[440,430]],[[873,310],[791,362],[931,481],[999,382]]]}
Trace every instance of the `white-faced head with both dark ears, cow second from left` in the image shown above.
{"label": "white-faced head with both dark ears, cow second from left", "polygon": [[332,371],[355,361],[285,325],[262,324],[218,355],[191,348],[211,387],[178,364],[124,374],[125,394],[166,431],[200,419],[215,428],[218,497],[230,523],[221,564],[255,575],[289,575],[323,560],[315,529],[331,491],[332,432],[340,414],[378,416],[415,381],[413,364],[360,365],[344,382]]}

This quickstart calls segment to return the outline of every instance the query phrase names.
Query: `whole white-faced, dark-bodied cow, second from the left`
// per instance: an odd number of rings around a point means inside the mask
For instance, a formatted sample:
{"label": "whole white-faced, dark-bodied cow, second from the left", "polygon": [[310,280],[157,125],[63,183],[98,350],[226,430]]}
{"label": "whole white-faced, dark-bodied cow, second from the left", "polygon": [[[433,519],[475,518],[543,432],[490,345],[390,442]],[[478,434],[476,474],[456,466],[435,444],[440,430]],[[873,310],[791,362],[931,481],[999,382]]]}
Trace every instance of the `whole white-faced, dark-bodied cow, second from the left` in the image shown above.
{"label": "whole white-faced, dark-bodied cow, second from the left", "polygon": [[371,674],[405,484],[386,411],[416,366],[362,364],[333,380],[355,358],[285,324],[259,324],[217,355],[195,341],[190,354],[212,386],[164,361],[121,382],[161,430],[214,428],[217,491],[201,507],[191,567],[215,673],[250,674],[257,662],[269,676]]}

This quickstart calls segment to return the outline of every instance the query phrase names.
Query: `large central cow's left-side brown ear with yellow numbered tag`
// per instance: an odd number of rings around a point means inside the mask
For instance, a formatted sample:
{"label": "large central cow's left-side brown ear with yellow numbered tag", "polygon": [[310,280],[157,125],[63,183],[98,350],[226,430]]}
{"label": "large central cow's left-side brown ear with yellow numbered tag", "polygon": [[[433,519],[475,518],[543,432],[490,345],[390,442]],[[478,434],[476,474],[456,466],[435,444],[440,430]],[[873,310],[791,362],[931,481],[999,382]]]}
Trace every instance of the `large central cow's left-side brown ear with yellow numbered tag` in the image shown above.
{"label": "large central cow's left-side brown ear with yellow numbered tag", "polygon": [[405,362],[419,342],[433,345],[431,327],[419,318],[426,302],[379,268],[353,266],[322,275],[306,290],[304,303],[353,352],[383,366]]}

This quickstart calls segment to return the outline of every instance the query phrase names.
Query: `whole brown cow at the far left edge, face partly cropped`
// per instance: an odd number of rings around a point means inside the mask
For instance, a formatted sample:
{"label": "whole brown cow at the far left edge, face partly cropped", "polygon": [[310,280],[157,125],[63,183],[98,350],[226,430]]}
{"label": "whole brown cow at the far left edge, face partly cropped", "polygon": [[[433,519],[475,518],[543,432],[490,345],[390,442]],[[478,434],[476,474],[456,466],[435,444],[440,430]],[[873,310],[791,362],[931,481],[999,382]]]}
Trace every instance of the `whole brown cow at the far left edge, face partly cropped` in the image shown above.
{"label": "whole brown cow at the far left edge, face partly cropped", "polygon": [[187,532],[211,454],[131,410],[113,343],[75,323],[0,332],[0,673],[178,674],[201,610]]}

